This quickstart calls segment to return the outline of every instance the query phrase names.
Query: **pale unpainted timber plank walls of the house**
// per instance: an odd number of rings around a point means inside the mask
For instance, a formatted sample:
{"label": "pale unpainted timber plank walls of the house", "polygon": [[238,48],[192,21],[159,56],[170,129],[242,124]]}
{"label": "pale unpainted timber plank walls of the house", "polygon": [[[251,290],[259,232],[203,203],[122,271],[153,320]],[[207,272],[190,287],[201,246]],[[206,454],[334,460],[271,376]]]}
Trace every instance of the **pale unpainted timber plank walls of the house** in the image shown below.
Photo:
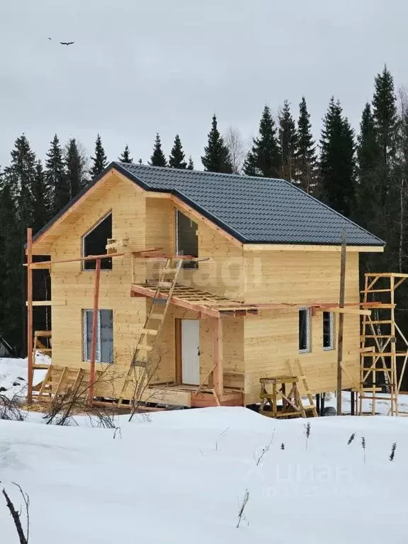
{"label": "pale unpainted timber plank walls of the house", "polygon": [[[222,373],[225,387],[242,393],[239,401],[258,402],[260,378],[290,372],[299,359],[312,392],[336,388],[336,346],[324,350],[322,310],[339,300],[340,251],[336,246],[246,246],[212,225],[199,212],[170,193],[149,193],[122,174],[111,170],[49,229],[33,242],[33,254],[50,255],[51,261],[79,259],[82,237],[102,217],[112,213],[113,239],[127,239],[131,251],[160,248],[174,254],[175,212],[181,210],[197,225],[197,269],[182,270],[179,283],[236,302],[267,305],[244,315],[221,317]],[[358,253],[382,248],[348,248],[346,305],[358,307]],[[133,268],[133,270],[132,270]],[[52,263],[52,364],[88,368],[84,361],[83,312],[94,304],[94,271],[81,261]],[[118,397],[151,301],[130,296],[132,282],[157,278],[157,263],[135,259],[130,253],[113,259],[112,270],[101,270],[98,307],[113,311],[115,376],[98,396]],[[276,304],[277,307],[271,307]],[[285,306],[286,305],[286,306]],[[299,308],[310,308],[310,352],[299,352]],[[171,305],[155,344],[159,358],[157,382],[181,385],[181,320],[199,319],[200,383],[214,380],[217,357],[214,338],[217,319]],[[336,319],[334,319],[336,324]],[[359,380],[360,331],[358,314],[344,319],[344,388]],[[336,331],[336,325],[334,327]],[[220,356],[220,354],[218,354]],[[221,357],[221,356],[220,356]],[[98,367],[99,365],[97,365]],[[108,388],[111,390],[108,390]],[[198,397],[197,397],[198,398]],[[232,398],[232,397],[231,397]],[[235,398],[235,397],[234,397]],[[191,396],[174,392],[169,402],[188,404]],[[204,401],[203,401],[204,402]],[[193,404],[194,405],[194,404]],[[200,405],[199,399],[195,405]]]}

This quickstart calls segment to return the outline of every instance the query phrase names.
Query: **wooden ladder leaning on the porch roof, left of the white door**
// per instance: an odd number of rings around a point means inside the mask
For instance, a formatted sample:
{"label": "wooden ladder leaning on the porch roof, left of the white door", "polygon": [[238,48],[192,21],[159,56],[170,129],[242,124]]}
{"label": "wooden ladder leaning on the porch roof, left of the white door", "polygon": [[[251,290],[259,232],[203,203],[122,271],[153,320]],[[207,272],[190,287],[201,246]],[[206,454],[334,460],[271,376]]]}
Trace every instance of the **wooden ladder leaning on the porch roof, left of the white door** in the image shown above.
{"label": "wooden ladder leaning on the porch roof, left of the white door", "polygon": [[[154,296],[152,297],[152,305],[137,341],[135,353],[133,353],[132,362],[130,363],[122,391],[120,392],[118,406],[122,404],[123,399],[125,398],[126,390],[128,389],[130,382],[132,382],[136,367],[142,369],[142,376],[139,376],[140,379],[137,380],[137,387],[140,387],[139,381],[145,378],[149,357],[152,354],[157,337],[162,330],[164,319],[166,318],[167,310],[169,310],[169,305],[171,303],[171,296],[173,295],[174,288],[176,288],[177,278],[182,266],[183,259],[181,258],[169,257],[166,259],[166,264],[164,268],[162,268]],[[162,295],[163,289],[169,289],[169,292],[166,292],[165,298],[160,296]],[[150,344],[147,344],[149,339],[152,339],[152,341]]]}

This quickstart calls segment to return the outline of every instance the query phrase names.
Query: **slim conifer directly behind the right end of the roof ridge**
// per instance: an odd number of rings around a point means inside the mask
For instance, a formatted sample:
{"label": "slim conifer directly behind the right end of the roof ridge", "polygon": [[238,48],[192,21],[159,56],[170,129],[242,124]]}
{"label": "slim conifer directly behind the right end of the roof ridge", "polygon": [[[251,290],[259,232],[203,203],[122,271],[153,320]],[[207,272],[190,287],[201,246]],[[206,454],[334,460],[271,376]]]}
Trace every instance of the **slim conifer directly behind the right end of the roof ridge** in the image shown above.
{"label": "slim conifer directly behind the right end of the roof ridge", "polygon": [[288,181],[294,181],[297,131],[287,100],[283,103],[283,108],[279,115],[279,142],[282,154],[281,177]]}

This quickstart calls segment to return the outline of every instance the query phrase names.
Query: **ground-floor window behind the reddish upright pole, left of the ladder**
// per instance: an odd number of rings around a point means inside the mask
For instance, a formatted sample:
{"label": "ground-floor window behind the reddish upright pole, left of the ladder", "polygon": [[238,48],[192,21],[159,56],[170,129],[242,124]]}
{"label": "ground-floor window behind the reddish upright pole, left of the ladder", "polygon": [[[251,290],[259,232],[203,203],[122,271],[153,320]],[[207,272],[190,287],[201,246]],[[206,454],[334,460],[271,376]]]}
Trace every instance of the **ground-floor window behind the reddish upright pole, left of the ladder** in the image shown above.
{"label": "ground-floor window behind the reddish upright pole, left of the ladder", "polygon": [[[92,321],[94,310],[84,310],[84,361],[91,360]],[[113,363],[113,312],[98,310],[96,354],[98,363]]]}

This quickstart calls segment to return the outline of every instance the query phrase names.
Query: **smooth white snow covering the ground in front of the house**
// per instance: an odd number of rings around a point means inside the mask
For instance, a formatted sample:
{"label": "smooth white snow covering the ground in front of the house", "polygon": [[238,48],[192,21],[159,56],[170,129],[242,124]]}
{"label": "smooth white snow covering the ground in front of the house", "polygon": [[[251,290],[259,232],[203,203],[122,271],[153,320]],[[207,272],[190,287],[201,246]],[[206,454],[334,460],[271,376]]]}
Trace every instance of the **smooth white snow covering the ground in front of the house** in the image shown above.
{"label": "smooth white snow covering the ground in front of the house", "polygon": [[[0,480],[16,505],[12,482],[30,495],[30,544],[405,544],[408,418],[307,421],[308,441],[304,419],[177,410],[121,416],[113,438],[33,413],[0,421]],[[18,543],[1,499],[0,542]]]}

